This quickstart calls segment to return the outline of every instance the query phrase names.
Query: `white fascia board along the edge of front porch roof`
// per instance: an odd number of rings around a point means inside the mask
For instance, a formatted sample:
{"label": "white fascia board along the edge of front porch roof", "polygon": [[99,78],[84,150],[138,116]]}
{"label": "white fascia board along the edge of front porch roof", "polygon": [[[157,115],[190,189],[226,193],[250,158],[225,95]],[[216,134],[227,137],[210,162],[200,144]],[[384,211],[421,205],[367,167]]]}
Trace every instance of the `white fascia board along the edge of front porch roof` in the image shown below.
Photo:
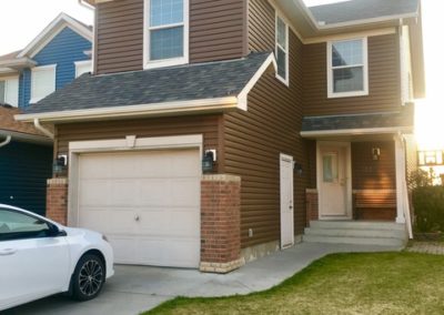
{"label": "white fascia board along the edge of front porch roof", "polygon": [[322,138],[339,135],[365,135],[365,134],[397,134],[413,132],[413,126],[389,126],[389,128],[369,128],[369,129],[340,129],[340,130],[320,130],[301,131],[302,138]]}

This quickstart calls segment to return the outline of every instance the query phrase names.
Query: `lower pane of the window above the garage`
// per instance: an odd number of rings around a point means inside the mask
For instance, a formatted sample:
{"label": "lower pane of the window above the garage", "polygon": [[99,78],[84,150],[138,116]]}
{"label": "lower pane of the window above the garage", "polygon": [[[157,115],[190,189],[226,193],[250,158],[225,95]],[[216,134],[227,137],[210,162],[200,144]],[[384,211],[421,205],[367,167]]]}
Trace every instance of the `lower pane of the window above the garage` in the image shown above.
{"label": "lower pane of the window above the garage", "polygon": [[151,31],[150,60],[183,57],[183,27]]}

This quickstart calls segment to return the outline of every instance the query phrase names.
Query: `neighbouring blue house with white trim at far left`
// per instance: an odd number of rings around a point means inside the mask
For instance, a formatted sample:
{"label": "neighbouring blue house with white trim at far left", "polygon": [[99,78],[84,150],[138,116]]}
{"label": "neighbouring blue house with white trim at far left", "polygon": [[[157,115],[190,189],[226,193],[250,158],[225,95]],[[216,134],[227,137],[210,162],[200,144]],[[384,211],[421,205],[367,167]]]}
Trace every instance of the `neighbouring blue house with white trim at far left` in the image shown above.
{"label": "neighbouring blue house with white trim at far left", "polygon": [[91,71],[91,28],[61,13],[23,50],[0,57],[0,203],[44,214],[53,142],[12,116]]}

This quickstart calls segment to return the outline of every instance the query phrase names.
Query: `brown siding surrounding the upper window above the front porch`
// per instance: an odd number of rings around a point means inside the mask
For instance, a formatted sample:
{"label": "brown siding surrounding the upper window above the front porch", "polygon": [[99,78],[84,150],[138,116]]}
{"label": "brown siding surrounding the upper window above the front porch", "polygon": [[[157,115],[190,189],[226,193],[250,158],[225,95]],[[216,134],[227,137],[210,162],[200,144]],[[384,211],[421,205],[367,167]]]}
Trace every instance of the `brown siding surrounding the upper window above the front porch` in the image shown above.
{"label": "brown siding surrounding the upper window above the front porch", "polygon": [[327,98],[326,43],[304,45],[304,115],[393,111],[401,105],[397,34],[369,38],[369,95]]}

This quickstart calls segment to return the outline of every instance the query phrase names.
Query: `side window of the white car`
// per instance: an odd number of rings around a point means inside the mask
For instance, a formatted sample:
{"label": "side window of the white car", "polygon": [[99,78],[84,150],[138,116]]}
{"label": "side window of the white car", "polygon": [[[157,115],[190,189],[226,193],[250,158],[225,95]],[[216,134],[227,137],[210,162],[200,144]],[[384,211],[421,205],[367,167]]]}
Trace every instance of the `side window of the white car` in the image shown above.
{"label": "side window of the white car", "polygon": [[47,222],[9,209],[0,209],[0,241],[46,237],[50,234]]}

